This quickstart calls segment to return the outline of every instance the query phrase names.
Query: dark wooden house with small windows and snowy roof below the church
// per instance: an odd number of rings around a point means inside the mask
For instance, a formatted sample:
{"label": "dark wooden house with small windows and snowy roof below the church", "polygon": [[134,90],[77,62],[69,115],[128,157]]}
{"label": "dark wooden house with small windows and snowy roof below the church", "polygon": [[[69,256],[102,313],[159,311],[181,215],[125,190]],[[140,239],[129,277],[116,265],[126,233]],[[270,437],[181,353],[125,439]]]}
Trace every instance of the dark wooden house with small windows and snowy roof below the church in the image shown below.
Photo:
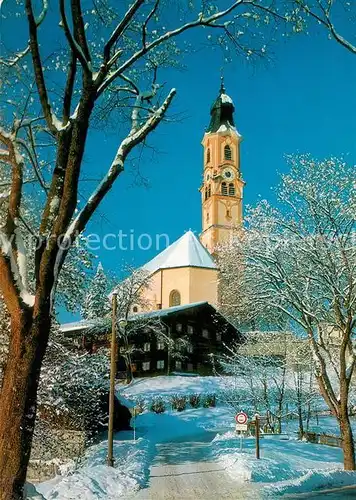
{"label": "dark wooden house with small windows and snowy roof below the church", "polygon": [[[134,314],[129,323],[135,330],[129,340],[134,346],[131,369],[135,376],[140,377],[173,372],[210,374],[213,371],[212,355],[222,352],[224,344],[239,339],[236,328],[208,302]],[[76,346],[89,352],[95,352],[97,347],[108,343],[107,334],[95,340],[89,339],[85,322],[82,328],[77,325],[73,330],[70,325],[64,327],[66,335],[76,339]],[[157,329],[163,334],[157,334]],[[167,338],[173,342],[167,342]],[[117,373],[122,378],[128,371],[123,350],[125,346],[119,339]]]}

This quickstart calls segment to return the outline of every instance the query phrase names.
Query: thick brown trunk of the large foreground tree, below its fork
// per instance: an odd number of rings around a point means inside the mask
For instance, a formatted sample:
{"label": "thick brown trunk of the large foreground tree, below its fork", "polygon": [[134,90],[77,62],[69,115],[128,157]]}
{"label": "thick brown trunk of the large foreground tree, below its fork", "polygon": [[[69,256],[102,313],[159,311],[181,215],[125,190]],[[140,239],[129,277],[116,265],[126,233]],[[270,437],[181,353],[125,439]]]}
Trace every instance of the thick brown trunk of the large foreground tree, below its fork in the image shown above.
{"label": "thick brown trunk of the large foreground tree, below its fork", "polygon": [[42,359],[50,314],[12,319],[8,362],[0,392],[0,500],[20,500],[30,459]]}

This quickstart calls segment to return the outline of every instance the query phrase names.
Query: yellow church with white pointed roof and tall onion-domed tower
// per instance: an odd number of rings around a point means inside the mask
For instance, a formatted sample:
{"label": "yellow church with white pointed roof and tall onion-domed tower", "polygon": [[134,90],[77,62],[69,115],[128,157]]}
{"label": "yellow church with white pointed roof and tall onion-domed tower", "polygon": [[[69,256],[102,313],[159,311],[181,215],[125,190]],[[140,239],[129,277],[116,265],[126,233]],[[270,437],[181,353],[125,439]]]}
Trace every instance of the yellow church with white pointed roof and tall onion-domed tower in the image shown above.
{"label": "yellow church with white pointed roof and tall onion-domed tower", "polygon": [[[192,231],[186,232],[143,266],[150,275],[145,299],[151,310],[202,301],[218,307],[214,255],[218,245],[242,224],[242,137],[235,127],[234,111],[222,81],[202,140],[202,232],[199,239]],[[139,307],[133,305],[132,313],[137,312],[141,312]]]}

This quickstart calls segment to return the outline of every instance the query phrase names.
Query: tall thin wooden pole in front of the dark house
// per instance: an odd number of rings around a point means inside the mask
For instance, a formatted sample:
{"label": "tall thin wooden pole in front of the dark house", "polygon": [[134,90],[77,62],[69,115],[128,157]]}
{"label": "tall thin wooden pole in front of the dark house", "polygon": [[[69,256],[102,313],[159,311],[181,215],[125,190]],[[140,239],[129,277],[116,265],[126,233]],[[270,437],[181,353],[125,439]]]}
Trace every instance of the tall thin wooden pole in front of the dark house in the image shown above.
{"label": "tall thin wooden pole in front of the dark house", "polygon": [[111,364],[110,364],[110,396],[109,396],[109,429],[107,464],[114,466],[114,417],[115,417],[115,378],[116,378],[116,311],[117,295],[112,296],[112,330],[111,330]]}

